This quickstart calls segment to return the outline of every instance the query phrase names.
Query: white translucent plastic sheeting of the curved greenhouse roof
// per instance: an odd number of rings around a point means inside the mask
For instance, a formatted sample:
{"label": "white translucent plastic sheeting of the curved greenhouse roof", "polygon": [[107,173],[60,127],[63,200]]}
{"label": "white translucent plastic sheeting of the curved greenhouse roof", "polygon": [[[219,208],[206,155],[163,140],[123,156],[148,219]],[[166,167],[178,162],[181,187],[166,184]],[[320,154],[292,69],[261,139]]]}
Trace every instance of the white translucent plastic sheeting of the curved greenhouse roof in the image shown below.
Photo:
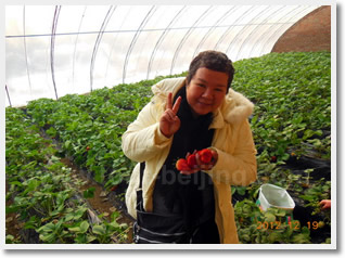
{"label": "white translucent plastic sheeting of the curved greenhouse roof", "polygon": [[7,5],[5,105],[179,74],[199,52],[269,53],[319,5]]}

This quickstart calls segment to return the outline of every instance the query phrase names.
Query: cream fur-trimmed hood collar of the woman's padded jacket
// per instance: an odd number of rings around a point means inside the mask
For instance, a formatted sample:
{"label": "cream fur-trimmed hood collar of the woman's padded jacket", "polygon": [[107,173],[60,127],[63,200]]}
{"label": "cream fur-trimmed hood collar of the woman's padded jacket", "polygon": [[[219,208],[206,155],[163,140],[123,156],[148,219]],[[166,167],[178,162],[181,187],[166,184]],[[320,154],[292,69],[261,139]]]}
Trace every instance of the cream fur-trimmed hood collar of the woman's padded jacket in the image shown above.
{"label": "cream fur-trimmed hood collar of the woman's padded jacket", "polygon": [[[166,103],[169,92],[175,95],[178,90],[186,85],[186,77],[168,78],[159,81],[152,87],[154,94],[153,101]],[[243,94],[229,89],[228,94],[220,107],[215,112],[213,122],[209,128],[222,128],[225,122],[239,124],[247,119],[254,111],[254,104]]]}

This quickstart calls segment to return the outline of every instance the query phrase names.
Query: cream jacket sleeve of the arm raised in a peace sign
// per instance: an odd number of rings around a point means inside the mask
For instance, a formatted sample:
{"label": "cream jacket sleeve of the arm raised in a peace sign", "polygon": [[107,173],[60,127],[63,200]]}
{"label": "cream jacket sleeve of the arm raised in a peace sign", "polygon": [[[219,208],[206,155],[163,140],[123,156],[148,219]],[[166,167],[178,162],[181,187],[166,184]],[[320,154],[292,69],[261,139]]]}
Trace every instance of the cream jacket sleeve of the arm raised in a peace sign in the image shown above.
{"label": "cream jacket sleeve of the arm raised in a peace sign", "polygon": [[122,138],[124,154],[138,163],[154,157],[171,143],[159,130],[156,104],[150,102],[130,124]]}

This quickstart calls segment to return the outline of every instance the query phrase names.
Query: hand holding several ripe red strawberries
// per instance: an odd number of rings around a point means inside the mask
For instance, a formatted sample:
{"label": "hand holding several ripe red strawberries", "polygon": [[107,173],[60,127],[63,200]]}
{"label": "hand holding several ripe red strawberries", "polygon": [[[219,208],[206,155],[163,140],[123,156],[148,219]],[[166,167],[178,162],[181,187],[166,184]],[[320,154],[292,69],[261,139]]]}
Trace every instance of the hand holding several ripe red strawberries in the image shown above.
{"label": "hand holding several ripe red strawberries", "polygon": [[214,150],[204,149],[193,154],[188,153],[186,159],[180,158],[176,168],[183,175],[191,175],[200,170],[212,169],[218,159],[218,153]]}

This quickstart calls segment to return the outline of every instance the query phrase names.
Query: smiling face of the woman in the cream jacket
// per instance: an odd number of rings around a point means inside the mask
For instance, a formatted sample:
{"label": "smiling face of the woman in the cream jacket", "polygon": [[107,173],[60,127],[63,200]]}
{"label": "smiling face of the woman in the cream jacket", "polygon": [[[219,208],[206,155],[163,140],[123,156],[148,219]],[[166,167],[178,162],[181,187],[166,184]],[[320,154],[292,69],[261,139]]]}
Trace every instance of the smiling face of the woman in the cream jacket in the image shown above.
{"label": "smiling face of the woman in the cream jacket", "polygon": [[201,67],[187,86],[187,101],[195,115],[215,112],[228,89],[228,74]]}

